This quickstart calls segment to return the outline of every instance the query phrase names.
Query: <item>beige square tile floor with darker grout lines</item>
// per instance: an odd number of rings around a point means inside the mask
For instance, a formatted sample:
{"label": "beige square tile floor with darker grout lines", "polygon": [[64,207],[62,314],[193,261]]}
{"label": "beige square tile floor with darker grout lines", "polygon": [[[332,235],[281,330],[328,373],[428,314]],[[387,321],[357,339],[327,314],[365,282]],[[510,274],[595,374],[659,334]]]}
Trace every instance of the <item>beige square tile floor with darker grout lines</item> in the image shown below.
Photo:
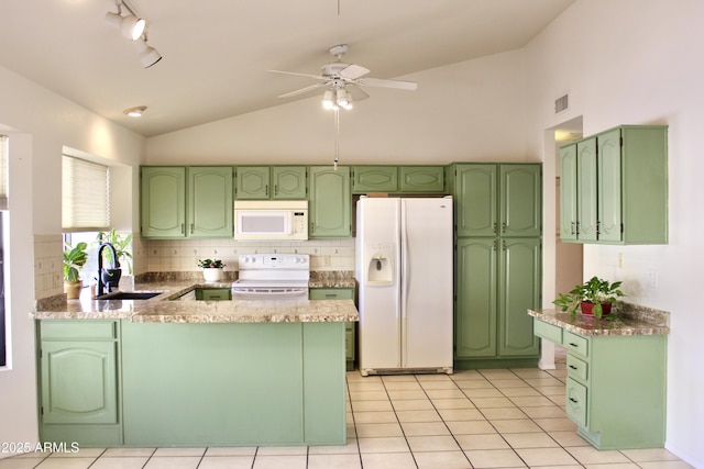
{"label": "beige square tile floor with darker grout lines", "polygon": [[685,469],[666,449],[597,451],[564,414],[558,369],[363,378],[348,372],[348,444],[100,448],[28,454],[0,469]]}

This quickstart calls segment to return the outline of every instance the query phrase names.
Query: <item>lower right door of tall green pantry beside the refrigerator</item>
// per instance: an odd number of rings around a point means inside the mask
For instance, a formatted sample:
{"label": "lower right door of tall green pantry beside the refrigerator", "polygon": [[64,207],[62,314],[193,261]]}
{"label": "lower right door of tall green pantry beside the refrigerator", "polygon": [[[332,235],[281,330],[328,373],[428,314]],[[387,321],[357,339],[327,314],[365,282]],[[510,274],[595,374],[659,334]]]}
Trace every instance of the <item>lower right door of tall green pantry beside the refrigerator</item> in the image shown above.
{"label": "lower right door of tall green pantry beside the refrigerator", "polygon": [[501,241],[498,269],[498,355],[532,357],[538,339],[528,309],[540,308],[540,238]]}

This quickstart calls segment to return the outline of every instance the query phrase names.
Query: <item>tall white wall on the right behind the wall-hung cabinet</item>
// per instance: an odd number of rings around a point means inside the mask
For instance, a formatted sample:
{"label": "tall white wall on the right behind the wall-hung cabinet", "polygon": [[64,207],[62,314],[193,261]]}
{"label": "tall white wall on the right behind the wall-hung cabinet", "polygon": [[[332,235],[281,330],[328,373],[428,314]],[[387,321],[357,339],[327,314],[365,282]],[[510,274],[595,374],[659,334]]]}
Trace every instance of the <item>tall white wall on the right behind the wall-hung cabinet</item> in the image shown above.
{"label": "tall white wall on the right behind the wall-hung cabinet", "polygon": [[[585,135],[618,124],[670,126],[670,243],[586,246],[584,277],[624,280],[630,302],[671,313],[667,447],[696,467],[704,467],[702,18],[698,0],[579,0],[526,47],[528,154],[549,153],[543,131],[579,115]],[[568,90],[570,110],[554,116],[553,101]]]}

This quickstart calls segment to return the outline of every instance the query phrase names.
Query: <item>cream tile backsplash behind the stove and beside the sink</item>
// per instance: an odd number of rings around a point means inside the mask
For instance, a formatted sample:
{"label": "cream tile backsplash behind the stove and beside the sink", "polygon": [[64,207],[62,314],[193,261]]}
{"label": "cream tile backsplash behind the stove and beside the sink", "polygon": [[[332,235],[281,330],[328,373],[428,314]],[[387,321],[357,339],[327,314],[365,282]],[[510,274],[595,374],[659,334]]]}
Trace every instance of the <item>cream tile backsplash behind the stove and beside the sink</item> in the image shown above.
{"label": "cream tile backsplash behind the stove and beside the sink", "polygon": [[[62,247],[61,234],[34,236],[34,298],[48,298],[64,292]],[[206,258],[221,259],[226,264],[224,270],[238,270],[239,255],[251,253],[309,254],[311,270],[354,270],[353,238],[264,243],[234,239],[143,239],[136,233],[132,241],[135,275],[197,271],[198,259]]]}

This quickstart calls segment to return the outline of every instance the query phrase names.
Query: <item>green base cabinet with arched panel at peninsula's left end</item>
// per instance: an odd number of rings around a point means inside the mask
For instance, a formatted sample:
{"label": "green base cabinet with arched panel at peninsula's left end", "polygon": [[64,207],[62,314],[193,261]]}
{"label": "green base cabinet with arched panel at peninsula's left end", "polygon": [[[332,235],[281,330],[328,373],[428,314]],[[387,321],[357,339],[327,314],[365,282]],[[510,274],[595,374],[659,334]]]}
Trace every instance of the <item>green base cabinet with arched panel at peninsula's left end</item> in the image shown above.
{"label": "green base cabinet with arched panel at peninsula's left end", "polygon": [[41,440],[122,443],[119,334],[117,321],[37,323]]}

